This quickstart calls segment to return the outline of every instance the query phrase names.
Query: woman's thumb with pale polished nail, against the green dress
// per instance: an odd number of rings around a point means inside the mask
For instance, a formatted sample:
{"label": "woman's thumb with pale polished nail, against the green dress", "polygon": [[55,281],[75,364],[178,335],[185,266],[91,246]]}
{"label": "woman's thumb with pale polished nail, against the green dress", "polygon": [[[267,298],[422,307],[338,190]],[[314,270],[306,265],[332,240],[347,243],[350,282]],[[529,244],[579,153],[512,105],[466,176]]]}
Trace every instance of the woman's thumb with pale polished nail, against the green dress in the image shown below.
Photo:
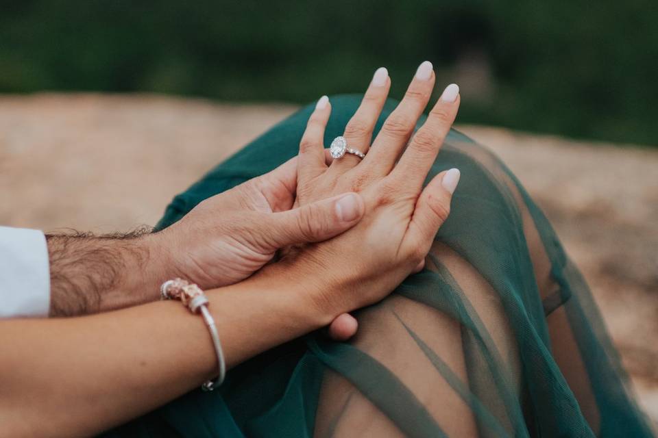
{"label": "woman's thumb with pale polished nail, against the green dress", "polygon": [[424,255],[430,250],[439,227],[450,214],[452,194],[459,183],[458,169],[450,169],[439,173],[423,189],[413,211],[409,224],[409,235],[405,237],[413,250],[421,250]]}

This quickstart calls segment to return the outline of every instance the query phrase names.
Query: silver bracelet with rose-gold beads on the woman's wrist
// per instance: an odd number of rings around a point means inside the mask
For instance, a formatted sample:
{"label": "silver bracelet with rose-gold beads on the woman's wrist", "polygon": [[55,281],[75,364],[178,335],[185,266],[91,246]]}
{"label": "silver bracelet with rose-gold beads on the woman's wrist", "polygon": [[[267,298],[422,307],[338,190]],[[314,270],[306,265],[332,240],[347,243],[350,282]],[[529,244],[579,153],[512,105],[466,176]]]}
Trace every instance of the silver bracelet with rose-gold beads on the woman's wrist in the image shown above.
{"label": "silver bracelet with rose-gold beads on the woman's wrist", "polygon": [[217,353],[217,363],[219,364],[219,376],[215,381],[207,381],[201,386],[204,391],[212,391],[217,388],[224,381],[226,375],[226,362],[224,361],[224,352],[221,349],[219,342],[219,334],[217,333],[217,326],[215,320],[212,319],[210,311],[208,311],[208,298],[202,289],[194,283],[189,283],[183,279],[173,279],[165,281],[160,286],[160,298],[163,300],[180,300],[192,313],[201,313],[210,331],[212,337],[212,345],[215,346],[215,353]]}

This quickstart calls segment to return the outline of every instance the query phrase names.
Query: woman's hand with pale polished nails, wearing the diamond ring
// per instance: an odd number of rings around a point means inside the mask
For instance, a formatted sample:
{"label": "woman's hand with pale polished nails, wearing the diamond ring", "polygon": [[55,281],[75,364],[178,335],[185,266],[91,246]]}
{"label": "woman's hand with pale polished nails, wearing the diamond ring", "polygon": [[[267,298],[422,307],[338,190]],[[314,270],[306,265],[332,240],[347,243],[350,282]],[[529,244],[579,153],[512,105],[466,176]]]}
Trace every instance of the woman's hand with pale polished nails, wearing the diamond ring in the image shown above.
{"label": "woman's hand with pale polished nails, wearing the diamond ring", "polygon": [[296,203],[303,208],[338,193],[358,192],[365,201],[365,216],[332,240],[291,248],[267,270],[284,270],[288,276],[294,272],[296,278],[313,283],[312,296],[326,322],[384,298],[422,268],[437,230],[448,217],[459,170],[441,172],[425,188],[423,184],[457,113],[456,85],[443,91],[411,138],[434,83],[432,64],[424,62],[370,147],[390,88],[386,70],[376,72],[344,134],[348,147],[367,152],[363,160],[345,154],[326,164],[323,137],[331,112],[326,97],[308,120],[297,161]]}

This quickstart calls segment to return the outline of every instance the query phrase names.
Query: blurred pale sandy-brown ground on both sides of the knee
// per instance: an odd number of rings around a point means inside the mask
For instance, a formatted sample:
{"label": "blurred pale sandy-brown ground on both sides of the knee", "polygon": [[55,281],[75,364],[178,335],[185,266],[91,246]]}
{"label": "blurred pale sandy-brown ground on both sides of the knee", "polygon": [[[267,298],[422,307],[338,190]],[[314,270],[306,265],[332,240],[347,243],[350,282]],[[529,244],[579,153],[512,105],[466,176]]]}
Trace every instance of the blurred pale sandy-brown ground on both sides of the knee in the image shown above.
{"label": "blurred pale sandy-brown ground on both sides of the knee", "polygon": [[[117,231],[291,114],[164,96],[0,96],[0,224]],[[461,126],[516,172],[592,287],[658,424],[658,149]]]}

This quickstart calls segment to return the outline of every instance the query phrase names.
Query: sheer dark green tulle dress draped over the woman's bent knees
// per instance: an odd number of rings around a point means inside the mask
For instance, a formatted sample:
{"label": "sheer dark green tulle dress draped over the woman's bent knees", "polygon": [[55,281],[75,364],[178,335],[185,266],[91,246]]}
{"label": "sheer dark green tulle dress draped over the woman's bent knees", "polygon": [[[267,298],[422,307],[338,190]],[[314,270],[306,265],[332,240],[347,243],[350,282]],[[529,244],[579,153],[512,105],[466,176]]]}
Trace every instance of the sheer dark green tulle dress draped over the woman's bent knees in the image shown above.
{"label": "sheer dark green tulle dress draped over the woman's bent knees", "polygon": [[[331,98],[325,144],[360,100]],[[376,131],[396,104],[387,102]],[[296,155],[312,110],[176,196],[157,228]],[[191,391],[106,436],[651,436],[589,289],[544,214],[498,158],[457,131],[429,177],[452,167],[461,182],[426,268],[356,311],[354,339],[310,333],[230,370],[219,390]]]}

